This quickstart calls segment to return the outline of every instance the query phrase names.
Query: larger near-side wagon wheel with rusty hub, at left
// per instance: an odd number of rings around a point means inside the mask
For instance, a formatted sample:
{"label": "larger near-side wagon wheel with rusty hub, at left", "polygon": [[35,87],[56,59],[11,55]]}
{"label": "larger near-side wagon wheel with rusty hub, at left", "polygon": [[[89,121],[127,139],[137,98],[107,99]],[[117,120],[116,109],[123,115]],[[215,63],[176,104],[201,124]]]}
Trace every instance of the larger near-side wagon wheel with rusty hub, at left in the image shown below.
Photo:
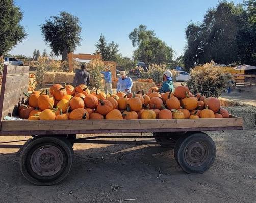
{"label": "larger near-side wagon wheel with rusty hub, at left", "polygon": [[20,156],[23,176],[36,185],[53,185],[62,181],[73,165],[69,142],[56,137],[39,137],[25,144]]}

